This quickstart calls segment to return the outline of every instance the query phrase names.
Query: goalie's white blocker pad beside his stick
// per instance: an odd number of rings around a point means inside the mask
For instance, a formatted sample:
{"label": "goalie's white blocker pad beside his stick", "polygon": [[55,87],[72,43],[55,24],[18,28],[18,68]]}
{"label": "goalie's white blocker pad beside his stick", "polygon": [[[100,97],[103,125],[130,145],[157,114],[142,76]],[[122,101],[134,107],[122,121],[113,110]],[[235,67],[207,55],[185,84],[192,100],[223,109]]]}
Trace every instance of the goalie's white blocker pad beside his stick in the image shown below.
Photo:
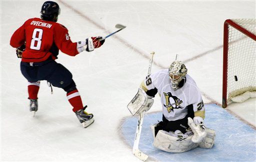
{"label": "goalie's white blocker pad beside his stick", "polygon": [[131,99],[127,108],[129,109],[132,115],[139,115],[143,111],[148,111],[154,100],[151,96],[148,96],[142,88],[138,88],[138,92]]}

